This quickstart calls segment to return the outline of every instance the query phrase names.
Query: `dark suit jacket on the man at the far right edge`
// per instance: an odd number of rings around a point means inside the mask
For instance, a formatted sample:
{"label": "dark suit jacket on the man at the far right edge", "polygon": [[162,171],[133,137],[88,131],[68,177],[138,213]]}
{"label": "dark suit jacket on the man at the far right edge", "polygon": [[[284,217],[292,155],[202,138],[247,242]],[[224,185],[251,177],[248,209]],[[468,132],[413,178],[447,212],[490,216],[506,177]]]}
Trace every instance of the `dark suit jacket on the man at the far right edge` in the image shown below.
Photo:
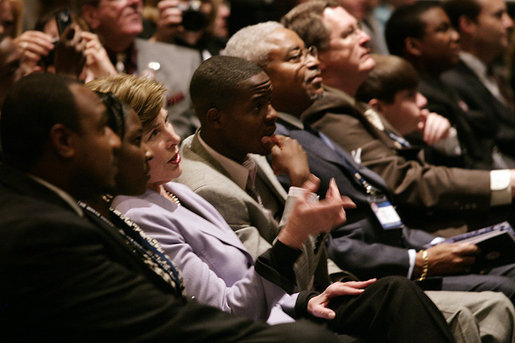
{"label": "dark suit jacket on the man at the far right edge", "polygon": [[452,88],[473,111],[466,117],[475,128],[495,125],[493,136],[499,149],[515,156],[515,113],[497,100],[481,80],[463,61],[442,75],[442,80]]}

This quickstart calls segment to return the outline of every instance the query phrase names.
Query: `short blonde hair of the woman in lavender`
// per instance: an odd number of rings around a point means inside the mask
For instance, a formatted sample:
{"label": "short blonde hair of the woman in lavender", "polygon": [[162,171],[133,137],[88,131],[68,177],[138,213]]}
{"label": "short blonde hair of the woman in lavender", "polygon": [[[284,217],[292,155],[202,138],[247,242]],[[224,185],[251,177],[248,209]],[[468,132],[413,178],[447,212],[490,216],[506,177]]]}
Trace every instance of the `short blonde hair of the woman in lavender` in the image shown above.
{"label": "short blonde hair of the woman in lavender", "polygon": [[144,77],[116,74],[88,82],[93,91],[114,93],[138,114],[145,129],[163,108],[166,88],[163,84]]}

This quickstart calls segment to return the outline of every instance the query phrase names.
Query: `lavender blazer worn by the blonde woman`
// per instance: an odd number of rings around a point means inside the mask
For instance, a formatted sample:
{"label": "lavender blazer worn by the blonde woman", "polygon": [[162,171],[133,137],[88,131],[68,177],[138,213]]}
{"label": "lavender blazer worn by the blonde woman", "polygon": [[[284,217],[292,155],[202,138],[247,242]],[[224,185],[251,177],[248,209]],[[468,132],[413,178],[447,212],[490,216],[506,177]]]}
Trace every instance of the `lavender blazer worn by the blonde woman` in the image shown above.
{"label": "lavender blazer worn by the blonde woman", "polygon": [[170,182],[165,188],[182,206],[147,190],[139,197],[118,196],[113,207],[163,246],[182,271],[186,293],[252,319],[293,321],[286,312],[293,313],[297,294],[286,294],[254,270],[251,255],[220,213],[185,185]]}

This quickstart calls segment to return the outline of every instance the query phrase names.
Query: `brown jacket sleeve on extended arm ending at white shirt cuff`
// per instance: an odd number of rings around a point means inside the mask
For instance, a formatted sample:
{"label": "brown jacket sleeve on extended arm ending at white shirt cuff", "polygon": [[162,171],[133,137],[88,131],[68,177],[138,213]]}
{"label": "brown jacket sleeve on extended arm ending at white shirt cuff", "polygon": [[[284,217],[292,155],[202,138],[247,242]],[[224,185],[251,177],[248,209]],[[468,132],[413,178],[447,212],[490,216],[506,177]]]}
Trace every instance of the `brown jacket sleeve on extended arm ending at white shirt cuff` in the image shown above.
{"label": "brown jacket sleeve on extended arm ending at white shirt cuff", "polygon": [[315,126],[347,151],[361,149],[363,165],[379,174],[393,193],[395,203],[438,209],[490,207],[488,171],[437,167],[419,159],[405,159],[387,146],[376,130],[346,114],[326,114]]}

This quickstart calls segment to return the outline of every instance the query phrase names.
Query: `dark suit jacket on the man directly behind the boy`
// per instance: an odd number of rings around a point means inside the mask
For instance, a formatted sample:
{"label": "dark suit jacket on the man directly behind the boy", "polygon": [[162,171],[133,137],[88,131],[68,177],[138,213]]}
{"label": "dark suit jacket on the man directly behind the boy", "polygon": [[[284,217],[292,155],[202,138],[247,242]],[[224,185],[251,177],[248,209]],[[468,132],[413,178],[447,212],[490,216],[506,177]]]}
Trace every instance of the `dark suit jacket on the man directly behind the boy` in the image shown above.
{"label": "dark suit jacket on the man directly behind the boy", "polygon": [[467,118],[478,117],[480,114],[461,108],[459,104],[463,106],[462,100],[438,76],[421,74],[419,89],[427,98],[427,108],[446,117],[456,127],[464,156],[463,167],[493,169],[495,125],[486,121],[474,128],[471,127]]}

